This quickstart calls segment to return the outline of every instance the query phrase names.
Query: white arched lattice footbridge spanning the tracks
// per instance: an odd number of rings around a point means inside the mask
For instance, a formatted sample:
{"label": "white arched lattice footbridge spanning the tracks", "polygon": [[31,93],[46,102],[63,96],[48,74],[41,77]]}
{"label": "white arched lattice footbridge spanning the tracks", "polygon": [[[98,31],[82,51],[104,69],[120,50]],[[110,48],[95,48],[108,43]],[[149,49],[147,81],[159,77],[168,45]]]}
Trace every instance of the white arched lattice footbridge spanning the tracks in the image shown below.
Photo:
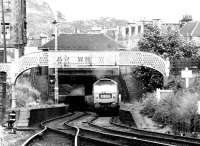
{"label": "white arched lattice footbridge spanning the tracks", "polygon": [[[22,56],[13,63],[0,64],[0,71],[7,73],[13,89],[17,78],[26,70],[35,67],[48,68],[112,68],[121,66],[146,66],[169,74],[169,62],[161,57],[140,51],[40,51]],[[16,106],[12,92],[12,107]]]}

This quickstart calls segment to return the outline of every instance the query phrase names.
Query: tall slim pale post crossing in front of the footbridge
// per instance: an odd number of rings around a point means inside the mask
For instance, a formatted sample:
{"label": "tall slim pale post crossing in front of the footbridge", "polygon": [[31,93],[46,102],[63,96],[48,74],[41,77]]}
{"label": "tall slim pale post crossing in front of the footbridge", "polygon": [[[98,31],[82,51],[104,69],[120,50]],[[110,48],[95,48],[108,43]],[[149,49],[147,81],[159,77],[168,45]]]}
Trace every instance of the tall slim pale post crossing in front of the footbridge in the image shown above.
{"label": "tall slim pale post crossing in front of the footbridge", "polygon": [[[55,26],[55,52],[58,51],[58,28],[57,28],[57,15],[55,14],[55,20],[53,21]],[[59,100],[59,87],[58,87],[58,67],[55,66],[55,86],[54,86],[54,96],[55,96],[55,104],[58,104]]]}

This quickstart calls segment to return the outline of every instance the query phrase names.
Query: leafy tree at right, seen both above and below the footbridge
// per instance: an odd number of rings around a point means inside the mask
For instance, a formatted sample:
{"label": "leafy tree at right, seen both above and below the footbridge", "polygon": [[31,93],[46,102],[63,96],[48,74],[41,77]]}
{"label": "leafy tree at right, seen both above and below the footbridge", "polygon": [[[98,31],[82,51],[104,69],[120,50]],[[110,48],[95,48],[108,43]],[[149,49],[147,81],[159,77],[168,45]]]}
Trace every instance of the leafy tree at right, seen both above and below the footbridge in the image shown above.
{"label": "leafy tree at right, seen both above and below the footbridge", "polygon": [[[147,25],[143,37],[138,42],[140,51],[155,53],[163,58],[180,59],[197,56],[197,47],[186,41],[178,31],[162,31],[158,26]],[[137,67],[133,71],[136,78],[143,82],[146,91],[154,91],[163,86],[162,75],[154,69]]]}

